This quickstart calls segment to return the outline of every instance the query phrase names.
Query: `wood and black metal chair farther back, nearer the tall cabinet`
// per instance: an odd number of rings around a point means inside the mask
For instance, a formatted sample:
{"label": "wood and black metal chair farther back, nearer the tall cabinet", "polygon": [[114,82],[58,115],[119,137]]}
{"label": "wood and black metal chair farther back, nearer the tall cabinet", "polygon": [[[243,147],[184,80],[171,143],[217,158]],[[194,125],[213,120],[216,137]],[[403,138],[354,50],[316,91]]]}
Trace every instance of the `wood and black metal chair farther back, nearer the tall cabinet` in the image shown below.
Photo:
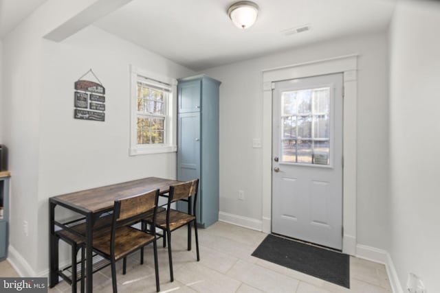
{"label": "wood and black metal chair farther back, nearer the tall cabinet", "polygon": [[[197,218],[196,218],[196,202],[197,202],[197,189],[199,187],[199,179],[190,180],[186,183],[180,183],[170,186],[170,192],[168,195],[168,204],[166,212],[157,214],[155,224],[153,218],[149,217],[145,219],[145,222],[151,226],[160,228],[163,231],[164,247],[166,246],[166,238],[168,238],[168,259],[170,263],[170,279],[174,281],[173,276],[173,257],[171,253],[171,232],[175,231],[181,226],[188,225],[188,250],[191,250],[191,224],[194,223],[195,231],[195,245],[197,250],[197,261],[200,260],[199,255],[199,237],[197,235]],[[191,198],[194,198],[191,207]],[[171,209],[171,204],[177,202],[177,200],[184,200],[188,202],[188,213],[182,211],[176,211]],[[151,229],[155,230],[155,229]]]}

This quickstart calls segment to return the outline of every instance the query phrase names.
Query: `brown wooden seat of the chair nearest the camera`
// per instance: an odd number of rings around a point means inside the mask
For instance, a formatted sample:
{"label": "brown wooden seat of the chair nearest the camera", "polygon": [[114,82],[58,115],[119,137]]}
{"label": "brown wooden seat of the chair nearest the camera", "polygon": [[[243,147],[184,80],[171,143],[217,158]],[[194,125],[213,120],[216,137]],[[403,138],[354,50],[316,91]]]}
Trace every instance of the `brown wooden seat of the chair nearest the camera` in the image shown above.
{"label": "brown wooden seat of the chair nearest the camera", "polygon": [[[111,233],[99,233],[98,237],[94,237],[94,249],[111,255],[110,253],[110,237]],[[130,226],[120,226],[115,231],[115,259],[120,259],[125,255],[141,248],[146,243],[153,241],[154,236],[139,231]]]}

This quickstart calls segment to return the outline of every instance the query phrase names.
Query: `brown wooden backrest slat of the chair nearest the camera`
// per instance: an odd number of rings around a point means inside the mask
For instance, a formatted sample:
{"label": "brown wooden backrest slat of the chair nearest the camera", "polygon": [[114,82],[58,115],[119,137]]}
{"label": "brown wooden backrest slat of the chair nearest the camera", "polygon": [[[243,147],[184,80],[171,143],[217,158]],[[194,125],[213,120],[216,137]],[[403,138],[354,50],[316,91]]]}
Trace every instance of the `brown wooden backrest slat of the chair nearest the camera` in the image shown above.
{"label": "brown wooden backrest slat of the chair nearest the camera", "polygon": [[120,222],[129,218],[133,218],[136,215],[146,213],[153,209],[157,205],[157,196],[159,190],[148,191],[146,194],[137,196],[131,196],[129,198],[123,198],[115,201],[118,202],[119,211],[116,216],[116,221]]}

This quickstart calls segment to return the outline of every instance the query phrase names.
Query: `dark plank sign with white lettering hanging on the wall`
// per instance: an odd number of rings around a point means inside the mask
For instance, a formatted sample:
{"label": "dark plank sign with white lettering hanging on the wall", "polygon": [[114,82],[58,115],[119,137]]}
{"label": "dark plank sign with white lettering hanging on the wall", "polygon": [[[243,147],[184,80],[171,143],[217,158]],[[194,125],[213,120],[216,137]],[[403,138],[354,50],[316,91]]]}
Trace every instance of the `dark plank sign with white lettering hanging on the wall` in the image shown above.
{"label": "dark plank sign with white lettering hanging on the wall", "polygon": [[[97,82],[81,80],[91,73]],[[90,69],[75,82],[74,118],[83,120],[104,121],[105,119],[105,88]],[[90,102],[89,102],[90,101]]]}

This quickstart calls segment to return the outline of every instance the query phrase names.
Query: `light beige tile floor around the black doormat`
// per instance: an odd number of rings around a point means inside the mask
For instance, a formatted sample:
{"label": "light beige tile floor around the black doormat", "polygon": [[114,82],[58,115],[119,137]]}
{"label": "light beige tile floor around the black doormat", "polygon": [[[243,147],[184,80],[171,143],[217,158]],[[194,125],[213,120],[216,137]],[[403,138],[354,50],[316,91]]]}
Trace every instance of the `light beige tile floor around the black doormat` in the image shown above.
{"label": "light beige tile floor around the black doormat", "polygon": [[[201,260],[196,261],[195,244],[186,250],[186,228],[172,234],[175,281],[170,283],[168,253],[159,241],[159,278],[161,292],[201,293],[389,293],[391,287],[384,265],[351,257],[351,289],[322,281],[307,274],[263,261],[251,254],[266,235],[239,226],[217,222],[199,229]],[[194,240],[194,239],[193,239]],[[194,242],[194,241],[193,241]],[[155,292],[155,276],[151,248],[145,252],[145,263],[139,264],[139,253],[127,260],[122,274],[118,263],[118,292]],[[14,274],[8,263],[0,263],[3,272]],[[78,283],[79,285],[79,283]],[[79,286],[78,286],[79,287]],[[50,289],[51,293],[72,292],[65,281]],[[79,290],[78,290],[79,292]],[[110,268],[94,274],[94,292],[112,292]]]}

